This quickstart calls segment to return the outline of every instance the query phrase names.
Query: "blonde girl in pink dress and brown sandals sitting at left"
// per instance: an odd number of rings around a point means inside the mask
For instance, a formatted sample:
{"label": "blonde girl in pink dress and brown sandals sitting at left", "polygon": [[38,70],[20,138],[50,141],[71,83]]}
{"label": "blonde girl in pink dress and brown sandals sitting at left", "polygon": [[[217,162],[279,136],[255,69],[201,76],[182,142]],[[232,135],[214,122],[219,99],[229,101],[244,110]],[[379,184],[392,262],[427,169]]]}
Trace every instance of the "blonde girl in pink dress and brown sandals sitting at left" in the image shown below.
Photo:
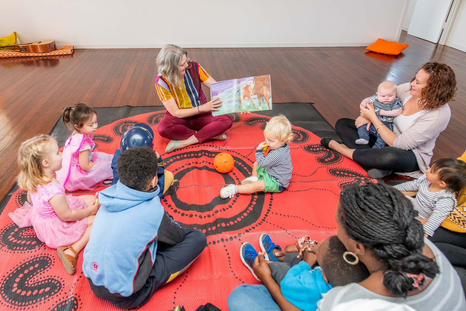
{"label": "blonde girl in pink dress and brown sandals sitting at left", "polygon": [[33,226],[39,240],[57,249],[65,270],[75,273],[78,253],[89,241],[100,206],[96,196],[65,196],[65,188],[54,178],[62,167],[62,153],[49,135],[23,142],[18,164],[18,184],[27,190],[27,202],[8,216],[20,228]]}

